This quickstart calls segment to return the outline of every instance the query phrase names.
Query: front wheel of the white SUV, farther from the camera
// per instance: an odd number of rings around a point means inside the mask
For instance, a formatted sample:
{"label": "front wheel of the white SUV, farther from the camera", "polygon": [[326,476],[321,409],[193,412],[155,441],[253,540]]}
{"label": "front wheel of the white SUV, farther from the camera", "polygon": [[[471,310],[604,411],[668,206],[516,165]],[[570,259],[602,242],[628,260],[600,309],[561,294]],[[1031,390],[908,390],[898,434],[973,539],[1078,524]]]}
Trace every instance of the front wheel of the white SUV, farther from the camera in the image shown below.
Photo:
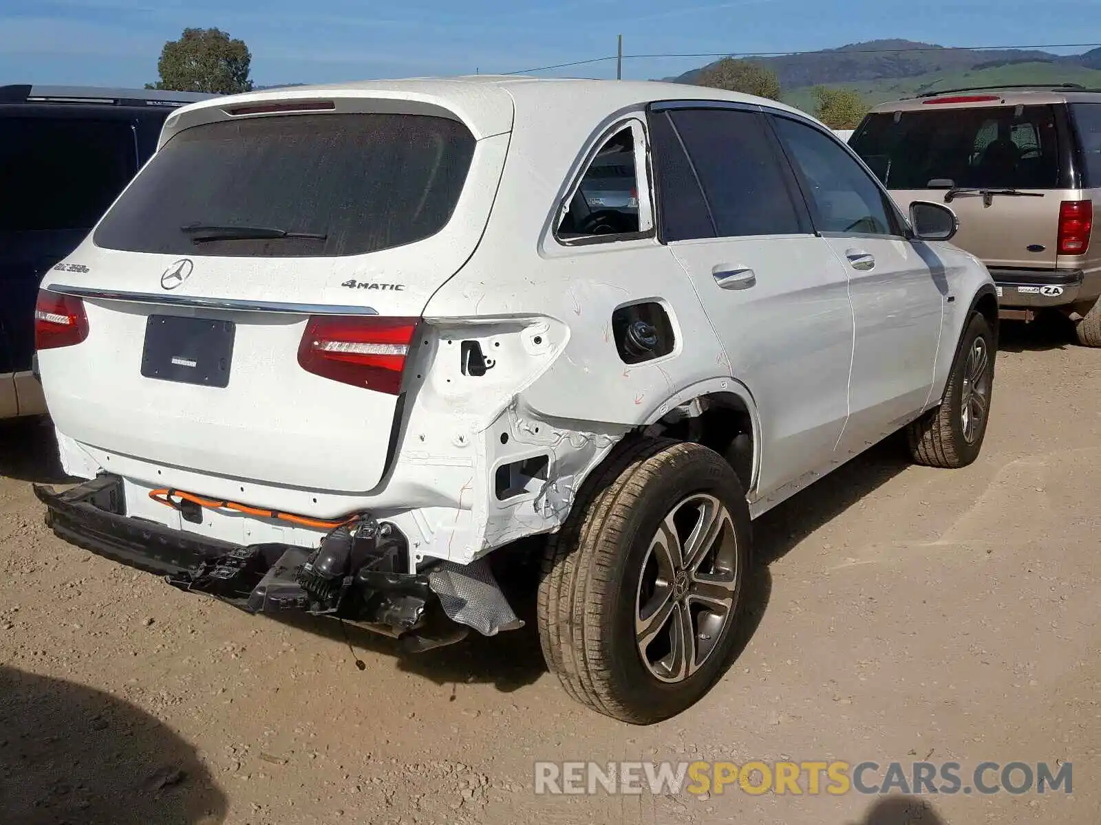
{"label": "front wheel of the white SUV, farther from the camera", "polygon": [[979,458],[990,420],[996,344],[990,323],[973,312],[963,330],[940,406],[906,428],[918,464],[956,470]]}

